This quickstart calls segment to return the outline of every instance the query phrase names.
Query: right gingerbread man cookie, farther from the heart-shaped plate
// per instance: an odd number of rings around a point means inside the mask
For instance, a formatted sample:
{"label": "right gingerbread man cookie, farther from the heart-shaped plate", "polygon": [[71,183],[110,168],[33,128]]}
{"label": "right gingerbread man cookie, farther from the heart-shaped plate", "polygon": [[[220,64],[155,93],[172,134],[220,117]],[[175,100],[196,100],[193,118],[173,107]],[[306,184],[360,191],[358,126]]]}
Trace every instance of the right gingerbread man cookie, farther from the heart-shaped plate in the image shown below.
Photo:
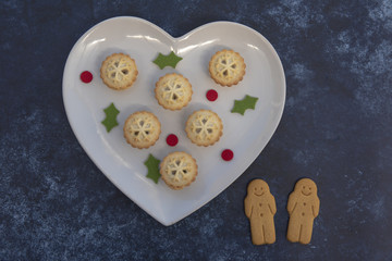
{"label": "right gingerbread man cookie, farther from the heart-shaped plate", "polygon": [[287,211],[290,214],[287,240],[292,243],[309,244],[313,224],[320,210],[317,197],[317,186],[309,178],[302,178],[295,184],[290,194]]}

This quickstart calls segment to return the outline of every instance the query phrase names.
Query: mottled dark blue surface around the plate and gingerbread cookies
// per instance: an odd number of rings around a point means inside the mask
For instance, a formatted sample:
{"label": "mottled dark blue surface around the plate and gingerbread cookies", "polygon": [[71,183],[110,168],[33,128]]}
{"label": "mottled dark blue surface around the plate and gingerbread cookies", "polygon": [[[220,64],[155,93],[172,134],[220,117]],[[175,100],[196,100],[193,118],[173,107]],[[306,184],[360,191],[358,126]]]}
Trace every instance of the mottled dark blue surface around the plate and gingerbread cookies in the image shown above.
{"label": "mottled dark blue surface around the plate and gingerbread cookies", "polygon": [[[282,121],[248,170],[164,227],[78,145],[62,103],[71,48],[113,16],[174,37],[248,25],[286,74]],[[392,3],[380,1],[1,1],[0,260],[392,260]],[[310,245],[285,239],[295,182],[318,184]],[[243,212],[255,177],[277,199],[277,243],[253,246]]]}

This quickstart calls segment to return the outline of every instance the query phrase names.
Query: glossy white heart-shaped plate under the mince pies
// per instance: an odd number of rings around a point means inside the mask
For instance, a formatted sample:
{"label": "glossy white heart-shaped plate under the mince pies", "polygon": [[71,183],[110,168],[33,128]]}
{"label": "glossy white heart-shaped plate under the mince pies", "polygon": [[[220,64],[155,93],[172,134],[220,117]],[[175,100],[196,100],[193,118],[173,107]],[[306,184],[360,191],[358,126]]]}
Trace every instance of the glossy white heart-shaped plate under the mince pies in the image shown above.
{"label": "glossy white heart-shaped plate under the mince pies", "polygon": [[[211,55],[224,48],[241,53],[246,63],[244,79],[233,87],[215,84],[208,73]],[[175,69],[160,70],[152,63],[159,52],[171,51],[183,58]],[[112,90],[99,77],[101,62],[114,52],[130,54],[137,64],[139,75],[126,90]],[[93,73],[91,83],[81,82],[83,71]],[[192,101],[181,111],[164,110],[155,99],[155,83],[169,72],[181,73],[193,86]],[[206,99],[208,89],[218,91],[216,101]],[[255,110],[231,113],[234,100],[245,95],[258,98]],[[285,78],[273,47],[247,26],[216,22],[173,38],[147,21],[114,17],[94,26],[73,47],[64,69],[63,99],[71,127],[95,164],[142,209],[171,225],[215,198],[258,157],[282,116]],[[111,102],[120,110],[120,125],[108,133],[101,121]],[[196,109],[210,109],[223,121],[223,136],[213,146],[198,147],[186,137],[185,121]],[[154,112],[162,124],[157,144],[143,150],[126,144],[122,129],[125,119],[138,110]],[[176,147],[166,142],[171,133],[179,137]],[[232,161],[221,159],[226,148],[234,152]],[[172,190],[162,181],[155,184],[146,177],[144,161],[149,153],[162,160],[179,150],[191,153],[198,164],[189,187]]]}

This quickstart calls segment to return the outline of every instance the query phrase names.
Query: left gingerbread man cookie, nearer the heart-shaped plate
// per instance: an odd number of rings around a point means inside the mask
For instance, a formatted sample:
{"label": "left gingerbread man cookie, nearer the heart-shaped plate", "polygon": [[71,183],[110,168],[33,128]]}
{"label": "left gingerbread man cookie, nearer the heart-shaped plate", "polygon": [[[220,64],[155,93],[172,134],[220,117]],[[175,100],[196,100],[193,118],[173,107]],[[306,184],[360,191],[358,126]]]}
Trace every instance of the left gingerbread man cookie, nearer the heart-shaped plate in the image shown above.
{"label": "left gingerbread man cookie, nearer the heart-shaped plate", "polygon": [[268,184],[262,179],[252,181],[244,203],[245,214],[250,221],[252,243],[273,244],[275,241],[273,215],[277,213],[277,204]]}

